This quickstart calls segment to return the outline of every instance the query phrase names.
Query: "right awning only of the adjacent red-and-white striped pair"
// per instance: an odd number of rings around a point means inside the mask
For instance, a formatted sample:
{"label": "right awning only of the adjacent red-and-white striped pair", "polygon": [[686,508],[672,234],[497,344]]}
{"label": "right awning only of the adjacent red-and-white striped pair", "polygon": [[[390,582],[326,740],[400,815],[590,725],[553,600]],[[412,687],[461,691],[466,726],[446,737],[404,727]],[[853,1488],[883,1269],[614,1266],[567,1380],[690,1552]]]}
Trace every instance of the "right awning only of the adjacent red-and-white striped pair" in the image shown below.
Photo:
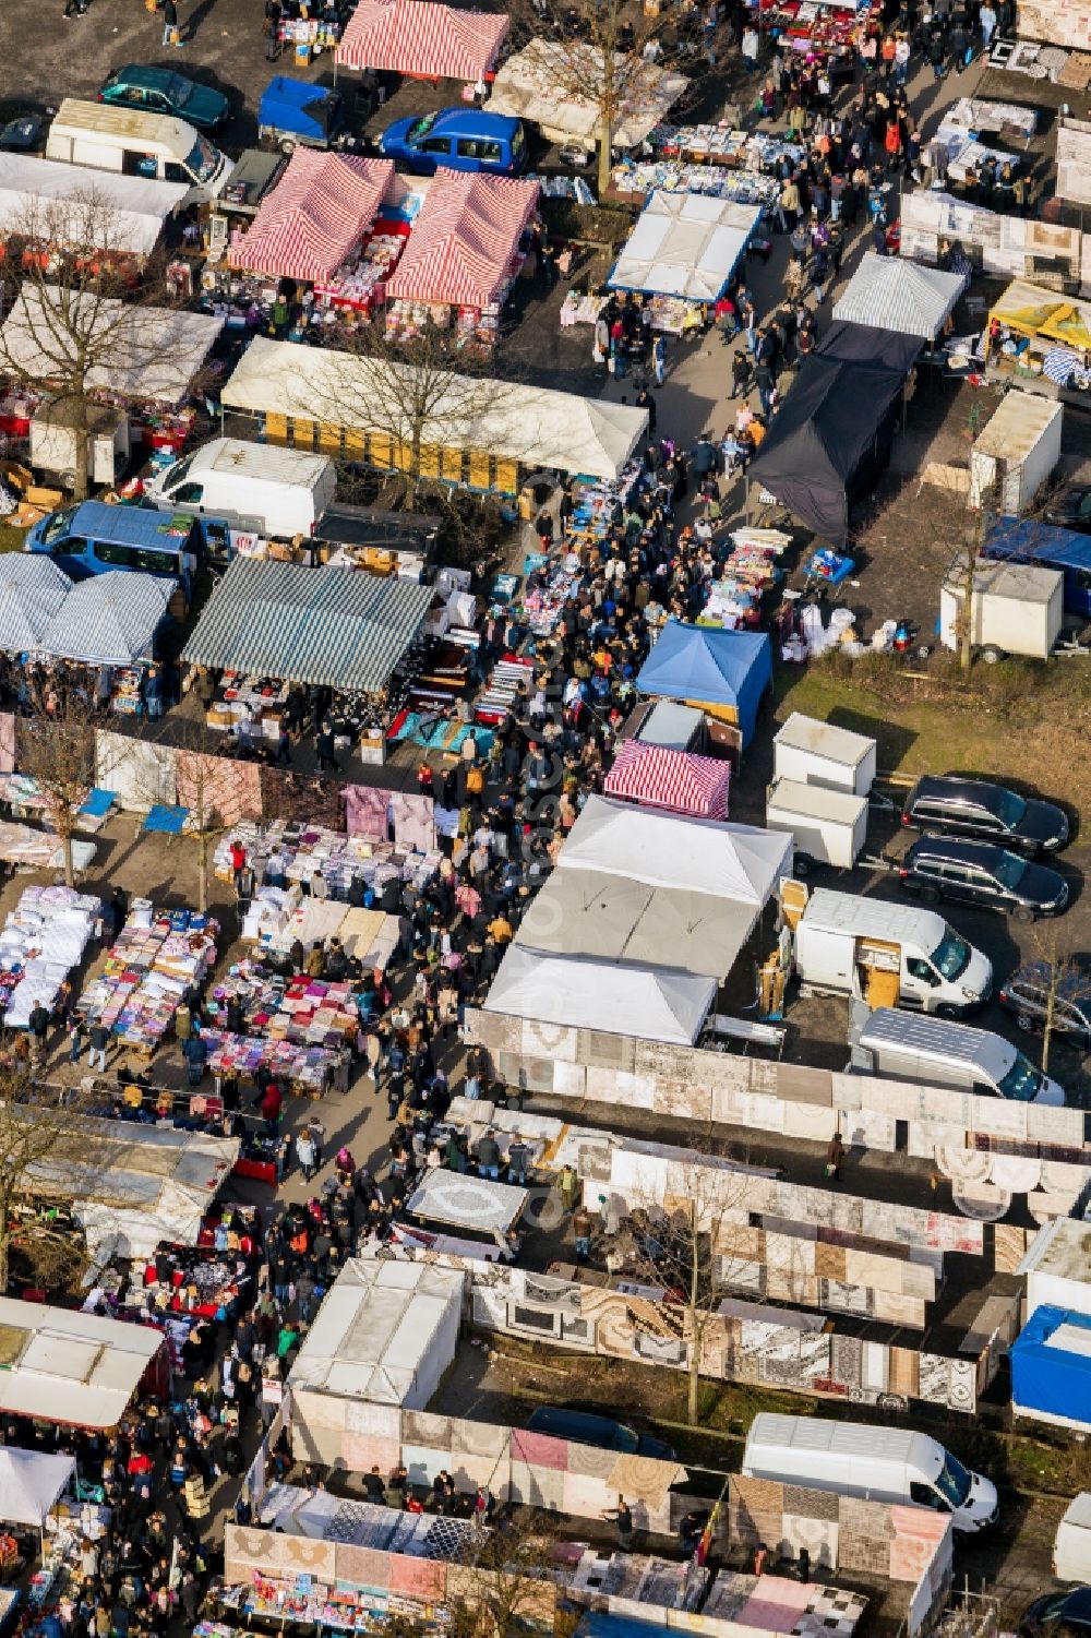
{"label": "right awning only of the adjacent red-and-white striped pair", "polygon": [[536,205],[537,182],[439,169],[387,280],[387,300],[487,306]]}

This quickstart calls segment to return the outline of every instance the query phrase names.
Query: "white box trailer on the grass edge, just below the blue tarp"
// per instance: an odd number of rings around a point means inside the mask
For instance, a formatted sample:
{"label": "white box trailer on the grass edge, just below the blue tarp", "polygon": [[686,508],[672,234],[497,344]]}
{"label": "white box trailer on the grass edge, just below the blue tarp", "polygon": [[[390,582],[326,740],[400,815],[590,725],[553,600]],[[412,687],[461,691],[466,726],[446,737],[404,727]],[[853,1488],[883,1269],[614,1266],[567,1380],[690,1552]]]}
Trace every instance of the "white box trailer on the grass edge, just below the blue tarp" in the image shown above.
{"label": "white box trailer on the grass edge, just below the blue tarp", "polygon": [[[945,649],[958,649],[965,601],[967,555],[962,552],[940,588],[940,642]],[[1065,577],[1060,570],[978,559],[970,637],[983,660],[1003,660],[1007,654],[1048,658],[1063,618]]]}

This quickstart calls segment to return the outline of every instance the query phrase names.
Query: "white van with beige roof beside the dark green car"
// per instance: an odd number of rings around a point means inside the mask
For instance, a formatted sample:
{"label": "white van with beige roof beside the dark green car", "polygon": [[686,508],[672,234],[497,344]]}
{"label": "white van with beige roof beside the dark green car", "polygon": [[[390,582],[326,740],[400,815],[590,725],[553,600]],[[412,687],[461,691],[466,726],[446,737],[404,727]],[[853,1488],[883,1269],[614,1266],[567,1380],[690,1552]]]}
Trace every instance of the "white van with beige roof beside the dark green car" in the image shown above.
{"label": "white van with beige roof beside the dark green car", "polygon": [[215,200],[231,170],[226,154],[187,120],[74,97],[64,98],[49,126],[46,159],[126,177],[185,182],[183,205]]}

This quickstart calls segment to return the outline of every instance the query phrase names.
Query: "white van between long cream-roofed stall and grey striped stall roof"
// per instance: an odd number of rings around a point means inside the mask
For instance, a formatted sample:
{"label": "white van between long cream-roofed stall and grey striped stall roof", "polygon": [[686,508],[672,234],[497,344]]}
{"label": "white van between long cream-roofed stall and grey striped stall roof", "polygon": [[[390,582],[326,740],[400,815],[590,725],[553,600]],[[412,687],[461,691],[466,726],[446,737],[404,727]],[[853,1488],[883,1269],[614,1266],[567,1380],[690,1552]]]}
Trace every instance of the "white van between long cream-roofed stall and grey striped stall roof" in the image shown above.
{"label": "white van between long cream-roofed stall and grey striped stall roof", "polygon": [[239,529],[290,541],[311,536],[337,490],[329,455],[213,437],[147,485],[154,506],[211,513]]}

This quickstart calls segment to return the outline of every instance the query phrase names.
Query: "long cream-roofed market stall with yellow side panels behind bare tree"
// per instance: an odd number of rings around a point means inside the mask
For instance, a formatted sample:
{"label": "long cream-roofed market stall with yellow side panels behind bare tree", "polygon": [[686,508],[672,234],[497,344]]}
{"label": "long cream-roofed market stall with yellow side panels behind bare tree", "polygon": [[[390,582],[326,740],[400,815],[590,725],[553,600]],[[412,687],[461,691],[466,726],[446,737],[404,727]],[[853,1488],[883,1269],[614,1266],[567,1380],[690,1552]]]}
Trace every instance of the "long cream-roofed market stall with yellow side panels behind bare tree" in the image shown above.
{"label": "long cream-roofed market stall with yellow side panels behind bare tree", "polygon": [[[406,428],[406,439],[393,439],[390,405],[411,396],[413,383],[401,378],[413,369],[257,336],[221,401],[224,410],[260,418],[270,442],[344,450],[347,459],[380,472],[401,470],[414,446],[421,472],[503,495],[518,495],[523,475],[542,468],[613,483],[647,429],[647,411],[634,405],[452,373],[449,396],[429,393],[419,437],[410,437]],[[228,575],[233,572],[234,565]]]}

